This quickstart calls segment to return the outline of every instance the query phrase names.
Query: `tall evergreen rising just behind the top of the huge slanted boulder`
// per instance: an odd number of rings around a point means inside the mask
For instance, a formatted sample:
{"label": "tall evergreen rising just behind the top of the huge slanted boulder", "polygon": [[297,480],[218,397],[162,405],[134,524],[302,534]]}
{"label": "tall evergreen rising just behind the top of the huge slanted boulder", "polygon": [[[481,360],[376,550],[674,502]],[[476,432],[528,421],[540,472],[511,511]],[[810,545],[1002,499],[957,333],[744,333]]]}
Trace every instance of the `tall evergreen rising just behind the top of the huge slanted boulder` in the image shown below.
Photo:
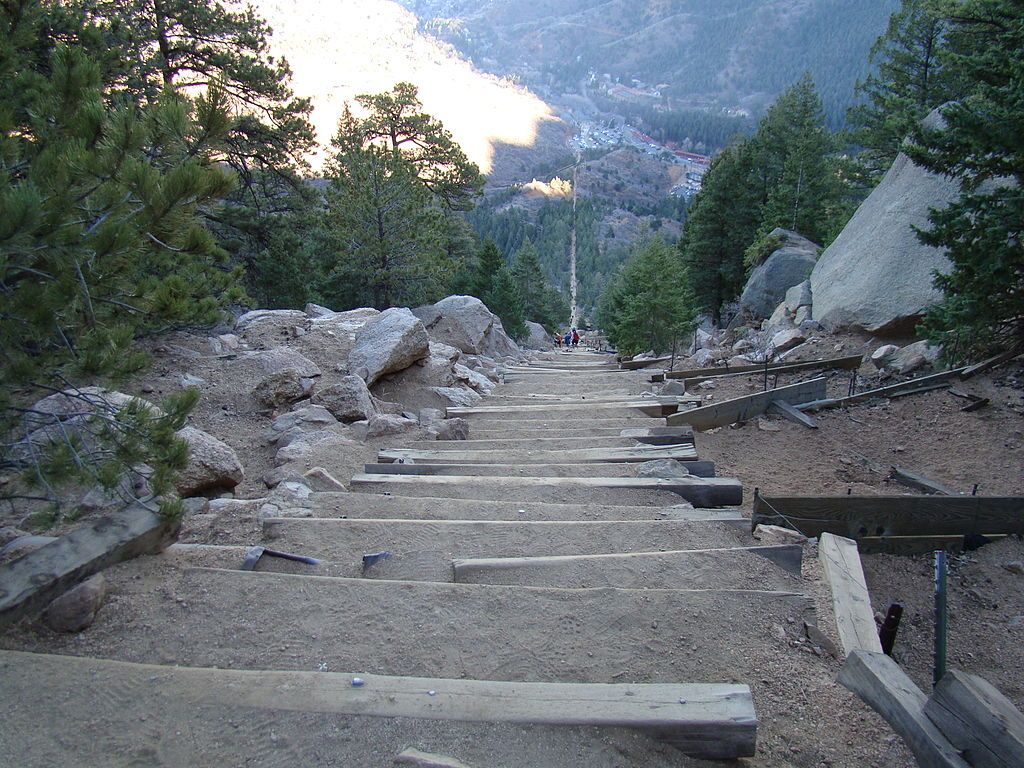
{"label": "tall evergreen rising just behind the top of the huge slanted boulder", "polygon": [[876,179],[885,173],[903,140],[958,87],[943,63],[948,22],[939,0],[903,0],[886,33],[871,47],[874,71],[857,84],[863,101],[851,108],[851,138]]}

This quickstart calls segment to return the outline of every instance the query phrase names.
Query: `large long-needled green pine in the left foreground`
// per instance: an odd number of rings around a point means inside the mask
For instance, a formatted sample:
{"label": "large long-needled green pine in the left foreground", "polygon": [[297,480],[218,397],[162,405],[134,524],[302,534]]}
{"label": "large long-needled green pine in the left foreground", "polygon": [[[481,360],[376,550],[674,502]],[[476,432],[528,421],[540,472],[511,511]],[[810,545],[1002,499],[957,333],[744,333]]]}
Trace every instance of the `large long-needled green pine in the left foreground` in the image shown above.
{"label": "large long-needled green pine in the left foreground", "polygon": [[[3,494],[56,502],[63,483],[113,488],[144,463],[164,496],[187,457],[174,432],[197,394],[163,413],[101,410],[77,387],[137,371],[138,335],[213,322],[240,298],[198,215],[233,182],[214,162],[226,99],[211,88],[109,108],[100,68],[45,29],[38,3],[0,6],[0,471],[24,483]],[[33,411],[63,389],[83,411],[73,425]],[[164,509],[176,511],[169,497]]]}

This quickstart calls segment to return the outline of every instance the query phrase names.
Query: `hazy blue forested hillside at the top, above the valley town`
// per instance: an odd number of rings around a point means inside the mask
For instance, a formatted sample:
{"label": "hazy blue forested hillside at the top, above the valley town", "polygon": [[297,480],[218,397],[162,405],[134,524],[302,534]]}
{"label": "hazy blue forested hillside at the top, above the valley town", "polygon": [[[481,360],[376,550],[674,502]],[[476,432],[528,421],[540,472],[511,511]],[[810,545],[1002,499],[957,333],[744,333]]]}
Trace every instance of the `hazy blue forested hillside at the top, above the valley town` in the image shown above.
{"label": "hazy blue forested hillside at the top, above the valley town", "polygon": [[680,105],[757,111],[810,71],[834,122],[898,0],[403,0],[485,66],[568,85],[588,71]]}

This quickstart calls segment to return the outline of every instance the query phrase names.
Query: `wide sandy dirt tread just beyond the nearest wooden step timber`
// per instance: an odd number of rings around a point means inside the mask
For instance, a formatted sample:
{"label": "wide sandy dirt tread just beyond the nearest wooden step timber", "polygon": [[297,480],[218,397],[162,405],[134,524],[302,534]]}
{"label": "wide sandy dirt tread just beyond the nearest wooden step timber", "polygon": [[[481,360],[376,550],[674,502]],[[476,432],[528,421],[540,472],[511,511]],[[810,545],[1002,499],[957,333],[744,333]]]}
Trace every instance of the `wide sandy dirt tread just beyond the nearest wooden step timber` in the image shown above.
{"label": "wide sandy dirt tread just beyond the nearest wooden step timber", "polygon": [[[551,590],[162,567],[108,571],[74,638],[22,626],[15,650],[224,669],[361,670],[534,682],[743,682],[778,664],[785,592]],[[798,651],[793,650],[794,655]],[[806,655],[800,654],[804,664]]]}

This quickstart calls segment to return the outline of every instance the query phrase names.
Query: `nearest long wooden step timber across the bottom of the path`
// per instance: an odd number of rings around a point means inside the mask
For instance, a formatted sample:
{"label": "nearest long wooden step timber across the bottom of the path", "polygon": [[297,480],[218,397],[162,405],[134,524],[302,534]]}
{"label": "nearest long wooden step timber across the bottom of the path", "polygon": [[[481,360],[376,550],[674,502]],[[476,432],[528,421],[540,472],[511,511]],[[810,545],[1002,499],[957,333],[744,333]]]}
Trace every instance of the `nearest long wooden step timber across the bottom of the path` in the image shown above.
{"label": "nearest long wooden step timber across the bottom of the path", "polygon": [[[757,718],[745,685],[707,683],[575,684],[388,677],[364,673],[276,672],[169,667],[0,651],[0,668],[18,684],[67,677],[97,680],[119,696],[97,696],[95,716],[124,708],[129,692],[159,691],[175,706],[243,708],[375,718],[630,728],[694,757],[755,753]],[[30,674],[35,672],[35,675]],[[353,685],[353,679],[361,685]],[[169,723],[168,727],[173,727]]]}

